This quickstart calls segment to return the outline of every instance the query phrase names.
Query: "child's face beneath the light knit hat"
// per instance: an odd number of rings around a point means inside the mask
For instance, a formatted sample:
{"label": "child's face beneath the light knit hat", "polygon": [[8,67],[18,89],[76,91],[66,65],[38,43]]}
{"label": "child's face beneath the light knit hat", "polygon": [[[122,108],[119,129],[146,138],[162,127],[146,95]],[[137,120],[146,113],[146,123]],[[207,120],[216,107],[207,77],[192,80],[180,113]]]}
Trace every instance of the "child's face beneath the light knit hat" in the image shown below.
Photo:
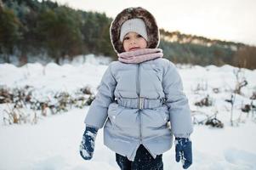
{"label": "child's face beneath the light knit hat", "polygon": [[122,46],[126,52],[146,48],[145,38],[136,32],[128,32],[122,41]]}

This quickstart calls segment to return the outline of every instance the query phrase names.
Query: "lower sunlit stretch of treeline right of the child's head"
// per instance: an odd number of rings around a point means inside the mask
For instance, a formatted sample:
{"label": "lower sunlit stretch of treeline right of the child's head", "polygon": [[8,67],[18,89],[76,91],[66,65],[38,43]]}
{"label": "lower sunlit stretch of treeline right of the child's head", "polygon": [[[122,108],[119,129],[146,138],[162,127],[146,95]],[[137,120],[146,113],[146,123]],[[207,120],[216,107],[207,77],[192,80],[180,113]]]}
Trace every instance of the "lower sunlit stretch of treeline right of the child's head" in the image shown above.
{"label": "lower sunlit stretch of treeline right of the child's head", "polygon": [[256,47],[161,30],[160,47],[168,59],[193,65],[235,65],[256,69]]}

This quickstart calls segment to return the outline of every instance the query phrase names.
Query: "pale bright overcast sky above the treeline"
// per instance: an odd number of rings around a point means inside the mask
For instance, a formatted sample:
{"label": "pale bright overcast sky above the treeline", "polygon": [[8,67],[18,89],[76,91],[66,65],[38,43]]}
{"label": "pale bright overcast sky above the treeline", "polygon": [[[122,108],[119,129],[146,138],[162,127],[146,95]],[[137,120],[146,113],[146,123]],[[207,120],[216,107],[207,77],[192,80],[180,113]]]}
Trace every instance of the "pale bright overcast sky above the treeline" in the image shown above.
{"label": "pale bright overcast sky above the treeline", "polygon": [[111,18],[128,7],[146,8],[166,31],[256,46],[255,0],[52,0]]}

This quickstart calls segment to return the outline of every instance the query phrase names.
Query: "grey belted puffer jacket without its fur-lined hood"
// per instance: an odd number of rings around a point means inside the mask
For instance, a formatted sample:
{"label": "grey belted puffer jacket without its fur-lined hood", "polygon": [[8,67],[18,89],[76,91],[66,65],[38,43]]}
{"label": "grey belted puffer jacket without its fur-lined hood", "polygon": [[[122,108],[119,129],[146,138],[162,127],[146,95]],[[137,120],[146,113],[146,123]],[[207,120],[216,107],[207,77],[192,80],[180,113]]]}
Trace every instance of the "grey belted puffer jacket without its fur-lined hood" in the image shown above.
{"label": "grey belted puffer jacket without its fur-lined hood", "polygon": [[173,134],[188,138],[193,131],[179,73],[162,58],[111,62],[84,122],[104,126],[105,145],[131,161],[139,144],[156,157],[172,147]]}

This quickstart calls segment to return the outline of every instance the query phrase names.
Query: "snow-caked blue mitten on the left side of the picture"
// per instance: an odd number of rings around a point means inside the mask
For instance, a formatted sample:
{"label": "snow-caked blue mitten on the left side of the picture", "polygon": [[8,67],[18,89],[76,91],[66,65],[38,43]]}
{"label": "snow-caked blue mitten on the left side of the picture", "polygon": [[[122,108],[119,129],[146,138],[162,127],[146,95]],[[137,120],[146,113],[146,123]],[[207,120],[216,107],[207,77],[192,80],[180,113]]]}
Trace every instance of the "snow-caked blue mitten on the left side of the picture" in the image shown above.
{"label": "snow-caked blue mitten on the left side of the picture", "polygon": [[85,160],[92,159],[94,155],[94,142],[98,129],[94,127],[86,127],[82,135],[82,142],[80,144],[80,155]]}

